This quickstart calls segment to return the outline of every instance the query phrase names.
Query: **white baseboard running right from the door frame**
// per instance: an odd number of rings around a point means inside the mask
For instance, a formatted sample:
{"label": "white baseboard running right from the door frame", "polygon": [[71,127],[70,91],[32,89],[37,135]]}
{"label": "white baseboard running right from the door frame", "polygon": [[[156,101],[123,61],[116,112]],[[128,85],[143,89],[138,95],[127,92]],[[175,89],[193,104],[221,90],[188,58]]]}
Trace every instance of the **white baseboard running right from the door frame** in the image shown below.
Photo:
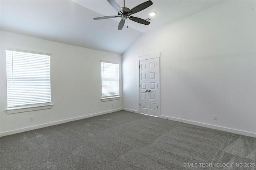
{"label": "white baseboard running right from the door frame", "polygon": [[236,133],[236,134],[239,134],[239,135],[245,135],[245,136],[249,136],[249,137],[256,137],[256,133],[241,131],[241,130],[237,130],[237,129],[231,129],[231,128],[228,128],[228,127],[210,125],[210,124],[206,124],[206,123],[200,123],[200,122],[196,122],[196,121],[179,119],[179,118],[169,117],[169,116],[164,116],[164,115],[160,115],[160,118],[169,119],[169,120],[173,120],[173,121],[179,121],[179,122],[183,122],[183,123],[188,123],[188,124],[191,124],[191,125],[208,127],[208,128],[211,128],[211,129],[226,131],[226,132],[230,132],[230,133]]}

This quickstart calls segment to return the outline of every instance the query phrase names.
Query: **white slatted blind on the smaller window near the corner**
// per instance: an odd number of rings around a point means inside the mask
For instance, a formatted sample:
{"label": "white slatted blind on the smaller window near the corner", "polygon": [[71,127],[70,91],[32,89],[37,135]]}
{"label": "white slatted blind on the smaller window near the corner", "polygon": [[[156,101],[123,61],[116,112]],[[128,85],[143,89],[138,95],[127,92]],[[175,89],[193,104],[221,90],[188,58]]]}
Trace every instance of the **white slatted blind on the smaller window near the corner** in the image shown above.
{"label": "white slatted blind on the smaller window near the corner", "polygon": [[119,96],[119,64],[101,62],[102,98]]}

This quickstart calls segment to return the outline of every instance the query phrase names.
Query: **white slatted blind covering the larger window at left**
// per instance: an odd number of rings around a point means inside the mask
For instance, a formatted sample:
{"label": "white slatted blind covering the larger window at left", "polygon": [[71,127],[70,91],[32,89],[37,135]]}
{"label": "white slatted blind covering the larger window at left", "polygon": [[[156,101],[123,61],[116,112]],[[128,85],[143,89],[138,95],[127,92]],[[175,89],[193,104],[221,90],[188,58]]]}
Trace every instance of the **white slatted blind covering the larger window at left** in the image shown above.
{"label": "white slatted blind covering the larger window at left", "polygon": [[51,103],[50,55],[6,50],[8,109]]}

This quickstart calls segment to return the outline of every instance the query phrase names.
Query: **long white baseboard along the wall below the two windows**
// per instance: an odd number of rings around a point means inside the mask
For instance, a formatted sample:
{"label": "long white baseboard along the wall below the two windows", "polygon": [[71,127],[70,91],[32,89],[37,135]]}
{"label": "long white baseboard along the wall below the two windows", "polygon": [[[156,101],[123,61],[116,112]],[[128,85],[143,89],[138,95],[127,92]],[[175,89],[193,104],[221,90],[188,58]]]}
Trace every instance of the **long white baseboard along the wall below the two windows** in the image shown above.
{"label": "long white baseboard along the wall below the two windows", "polygon": [[40,128],[48,127],[48,126],[52,126],[52,125],[58,125],[58,124],[61,124],[61,123],[67,123],[67,122],[70,122],[70,121],[85,119],[85,118],[88,118],[88,117],[104,115],[104,114],[107,114],[107,113],[112,113],[112,112],[120,111],[120,110],[123,110],[123,109],[122,108],[114,109],[114,110],[104,111],[104,112],[100,112],[100,113],[93,113],[93,114],[90,114],[90,115],[84,115],[84,116],[74,117],[74,118],[60,120],[60,121],[54,121],[54,122],[45,123],[45,124],[41,124],[41,125],[25,127],[25,128],[21,128],[21,129],[15,129],[15,130],[12,130],[12,131],[6,131],[6,132],[0,133],[0,137],[7,136],[7,135],[13,135],[13,134],[21,133],[21,132],[25,132],[25,131],[31,131],[31,130],[34,130],[34,129],[40,129]]}

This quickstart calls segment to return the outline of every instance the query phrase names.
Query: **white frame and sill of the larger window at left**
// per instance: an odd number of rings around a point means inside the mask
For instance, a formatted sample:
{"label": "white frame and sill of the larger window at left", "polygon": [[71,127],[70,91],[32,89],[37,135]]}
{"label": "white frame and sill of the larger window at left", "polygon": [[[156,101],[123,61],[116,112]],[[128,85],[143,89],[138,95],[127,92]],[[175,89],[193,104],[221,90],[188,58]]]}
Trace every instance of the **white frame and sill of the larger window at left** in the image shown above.
{"label": "white frame and sill of the larger window at left", "polygon": [[[12,51],[12,52],[21,52],[21,53],[30,53],[33,55],[47,55],[49,56],[49,74],[50,74],[50,56],[51,54],[49,53],[40,53],[40,52],[34,52],[34,51],[26,51],[26,50],[20,50],[20,49],[10,49],[10,48],[4,48],[5,51]],[[7,62],[7,53],[6,53],[6,62]],[[8,66],[6,63],[6,74],[8,72]],[[8,90],[8,76],[6,76],[6,92]],[[50,82],[49,82],[50,83]],[[26,111],[35,111],[35,110],[41,110],[41,109],[50,109],[52,108],[52,103],[51,103],[51,83],[50,83],[50,102],[44,103],[44,104],[31,104],[28,106],[18,106],[18,107],[9,107],[8,106],[8,92],[7,92],[7,109],[6,112],[7,114],[12,114],[12,113],[21,113],[21,112],[26,112]]]}

